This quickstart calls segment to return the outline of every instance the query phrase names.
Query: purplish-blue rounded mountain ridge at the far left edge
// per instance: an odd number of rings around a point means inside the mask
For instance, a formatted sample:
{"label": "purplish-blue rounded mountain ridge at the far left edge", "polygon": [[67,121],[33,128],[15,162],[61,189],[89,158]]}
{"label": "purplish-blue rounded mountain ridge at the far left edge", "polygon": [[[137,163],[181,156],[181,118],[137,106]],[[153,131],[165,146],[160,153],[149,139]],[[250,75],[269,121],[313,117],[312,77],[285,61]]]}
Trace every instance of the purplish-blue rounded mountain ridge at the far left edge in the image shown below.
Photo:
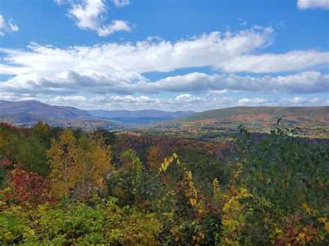
{"label": "purplish-blue rounded mountain ridge at the far left edge", "polygon": [[18,102],[0,100],[0,114],[31,114],[51,118],[94,118],[76,107],[51,106],[36,100]]}

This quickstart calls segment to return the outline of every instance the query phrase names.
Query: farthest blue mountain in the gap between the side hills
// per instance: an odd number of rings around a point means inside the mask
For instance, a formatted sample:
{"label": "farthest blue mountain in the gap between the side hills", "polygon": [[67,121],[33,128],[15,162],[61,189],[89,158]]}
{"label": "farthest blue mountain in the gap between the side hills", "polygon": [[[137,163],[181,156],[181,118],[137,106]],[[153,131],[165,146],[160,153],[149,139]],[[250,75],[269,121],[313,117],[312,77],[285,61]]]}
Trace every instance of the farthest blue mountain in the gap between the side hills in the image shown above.
{"label": "farthest blue mountain in the gap between the side hills", "polygon": [[87,110],[89,114],[97,118],[106,120],[120,121],[122,123],[152,123],[155,121],[168,121],[174,118],[189,116],[193,111],[167,112],[155,109],[144,109],[138,111],[128,110]]}

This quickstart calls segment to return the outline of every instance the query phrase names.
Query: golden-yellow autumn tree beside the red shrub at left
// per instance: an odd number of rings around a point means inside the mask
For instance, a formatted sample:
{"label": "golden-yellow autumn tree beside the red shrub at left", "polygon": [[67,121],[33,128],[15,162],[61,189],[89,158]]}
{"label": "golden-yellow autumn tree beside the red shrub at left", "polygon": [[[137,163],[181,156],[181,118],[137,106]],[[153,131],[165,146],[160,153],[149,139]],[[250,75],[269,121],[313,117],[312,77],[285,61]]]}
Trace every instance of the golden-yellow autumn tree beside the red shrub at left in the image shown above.
{"label": "golden-yellow autumn tree beside the red shrub at left", "polygon": [[53,191],[63,196],[80,199],[100,191],[111,168],[110,146],[103,139],[90,139],[81,134],[78,141],[72,130],[65,130],[58,141],[51,141],[48,150]]}

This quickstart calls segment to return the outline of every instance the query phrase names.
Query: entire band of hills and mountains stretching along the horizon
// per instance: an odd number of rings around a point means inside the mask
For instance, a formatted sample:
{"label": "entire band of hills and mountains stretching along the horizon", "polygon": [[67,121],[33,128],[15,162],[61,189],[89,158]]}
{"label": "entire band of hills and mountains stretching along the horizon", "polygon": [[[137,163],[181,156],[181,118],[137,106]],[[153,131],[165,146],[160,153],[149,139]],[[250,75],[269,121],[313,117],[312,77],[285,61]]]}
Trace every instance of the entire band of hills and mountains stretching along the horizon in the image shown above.
{"label": "entire band of hills and mountains stretching along the horizon", "polygon": [[143,125],[148,129],[180,128],[187,130],[237,130],[239,124],[268,132],[278,118],[288,125],[300,125],[312,131],[329,134],[329,107],[230,107],[205,112],[167,112],[153,109],[82,110],[76,107],[51,106],[35,100],[10,102],[0,100],[0,122],[31,126],[38,121],[60,127],[86,130],[107,128],[121,130]]}

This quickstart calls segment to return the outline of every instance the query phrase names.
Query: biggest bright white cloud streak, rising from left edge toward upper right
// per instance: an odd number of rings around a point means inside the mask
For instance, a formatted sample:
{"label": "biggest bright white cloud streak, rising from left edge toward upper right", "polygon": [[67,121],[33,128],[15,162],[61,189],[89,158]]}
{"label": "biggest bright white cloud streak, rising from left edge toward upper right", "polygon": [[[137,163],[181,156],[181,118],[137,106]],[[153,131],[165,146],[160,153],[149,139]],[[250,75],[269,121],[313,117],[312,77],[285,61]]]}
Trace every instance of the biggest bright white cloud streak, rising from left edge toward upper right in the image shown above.
{"label": "biggest bright white cloud streak, rising from left edge toward upper right", "polygon": [[[63,71],[81,75],[99,73],[120,77],[138,76],[149,71],[174,71],[185,67],[205,67],[226,64],[235,58],[253,53],[271,42],[271,30],[243,30],[237,33],[212,32],[177,42],[146,39],[133,43],[107,43],[94,46],[73,46],[60,49],[31,44],[27,51],[1,49],[7,53],[5,62],[12,65],[12,73],[29,69],[51,76]],[[323,60],[319,59],[318,64]],[[292,61],[291,66],[298,64]],[[14,67],[14,65],[16,67]],[[20,68],[17,68],[20,67]],[[301,64],[301,68],[304,68]],[[9,67],[6,68],[7,72]],[[269,68],[271,71],[271,68]]]}

